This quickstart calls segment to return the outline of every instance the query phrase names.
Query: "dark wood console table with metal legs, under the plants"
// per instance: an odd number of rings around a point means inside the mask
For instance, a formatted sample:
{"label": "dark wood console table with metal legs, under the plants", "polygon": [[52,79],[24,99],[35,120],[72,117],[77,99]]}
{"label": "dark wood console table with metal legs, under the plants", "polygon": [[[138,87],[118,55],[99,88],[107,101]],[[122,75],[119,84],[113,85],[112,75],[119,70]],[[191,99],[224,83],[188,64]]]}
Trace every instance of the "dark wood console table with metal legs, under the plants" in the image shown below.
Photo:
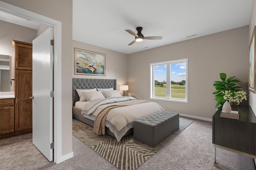
{"label": "dark wood console table with metal legs, under the plants", "polygon": [[214,166],[220,169],[226,168],[216,163],[216,147],[253,158],[253,162],[256,158],[256,117],[247,105],[232,106],[232,110],[238,111],[239,120],[220,117],[222,106],[212,116]]}

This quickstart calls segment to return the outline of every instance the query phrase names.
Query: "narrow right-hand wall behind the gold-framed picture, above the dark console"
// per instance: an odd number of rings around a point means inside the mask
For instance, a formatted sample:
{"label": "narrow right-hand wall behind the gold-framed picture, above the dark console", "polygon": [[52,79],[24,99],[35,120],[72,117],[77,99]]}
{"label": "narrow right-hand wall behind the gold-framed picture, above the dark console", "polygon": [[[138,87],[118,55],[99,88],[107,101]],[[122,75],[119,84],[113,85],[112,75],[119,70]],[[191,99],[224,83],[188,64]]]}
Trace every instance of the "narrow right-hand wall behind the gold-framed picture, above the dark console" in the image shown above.
{"label": "narrow right-hand wall behind the gold-framed picture, above the dark console", "polygon": [[[252,4],[252,13],[251,13],[250,24],[249,24],[248,44],[250,44],[252,32],[255,25],[256,25],[256,1],[254,0]],[[248,45],[248,50],[249,50],[249,45]],[[252,111],[254,112],[254,115],[256,115],[256,94],[250,91],[249,99],[250,99],[249,105],[252,107]]]}

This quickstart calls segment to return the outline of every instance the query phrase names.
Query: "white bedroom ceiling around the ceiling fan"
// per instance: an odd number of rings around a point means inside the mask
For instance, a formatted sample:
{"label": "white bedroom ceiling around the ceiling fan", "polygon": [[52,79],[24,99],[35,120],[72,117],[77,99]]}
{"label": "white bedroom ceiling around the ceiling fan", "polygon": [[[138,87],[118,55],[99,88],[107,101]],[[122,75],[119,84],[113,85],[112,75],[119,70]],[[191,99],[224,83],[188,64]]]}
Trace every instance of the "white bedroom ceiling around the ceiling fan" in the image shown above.
{"label": "white bedroom ceiling around the ceiling fan", "polygon": [[[253,0],[73,0],[73,39],[130,54],[249,25]],[[128,46],[143,27],[144,40]],[[188,37],[195,35],[193,37]],[[188,38],[186,38],[188,37]]]}

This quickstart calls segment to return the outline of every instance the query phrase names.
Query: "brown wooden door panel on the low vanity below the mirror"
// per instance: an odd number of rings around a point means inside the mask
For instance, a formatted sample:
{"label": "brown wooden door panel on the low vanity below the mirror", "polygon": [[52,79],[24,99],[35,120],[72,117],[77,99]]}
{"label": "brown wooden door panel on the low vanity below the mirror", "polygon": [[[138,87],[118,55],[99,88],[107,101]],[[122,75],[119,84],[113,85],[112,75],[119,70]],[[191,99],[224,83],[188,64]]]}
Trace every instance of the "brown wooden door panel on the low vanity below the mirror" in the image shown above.
{"label": "brown wooden door panel on the low vanity below the mirror", "polygon": [[0,135],[14,132],[14,106],[0,107]]}

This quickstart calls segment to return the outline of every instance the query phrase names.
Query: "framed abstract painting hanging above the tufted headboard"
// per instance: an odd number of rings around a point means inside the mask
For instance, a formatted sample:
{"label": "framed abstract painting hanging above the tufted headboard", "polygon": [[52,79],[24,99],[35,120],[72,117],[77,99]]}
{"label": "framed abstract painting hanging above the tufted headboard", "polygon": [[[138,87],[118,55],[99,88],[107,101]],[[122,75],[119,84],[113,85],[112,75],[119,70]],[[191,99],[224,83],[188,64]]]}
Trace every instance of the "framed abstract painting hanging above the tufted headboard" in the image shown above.
{"label": "framed abstract painting hanging above the tufted headboard", "polygon": [[105,54],[77,48],[74,50],[75,74],[105,76]]}

